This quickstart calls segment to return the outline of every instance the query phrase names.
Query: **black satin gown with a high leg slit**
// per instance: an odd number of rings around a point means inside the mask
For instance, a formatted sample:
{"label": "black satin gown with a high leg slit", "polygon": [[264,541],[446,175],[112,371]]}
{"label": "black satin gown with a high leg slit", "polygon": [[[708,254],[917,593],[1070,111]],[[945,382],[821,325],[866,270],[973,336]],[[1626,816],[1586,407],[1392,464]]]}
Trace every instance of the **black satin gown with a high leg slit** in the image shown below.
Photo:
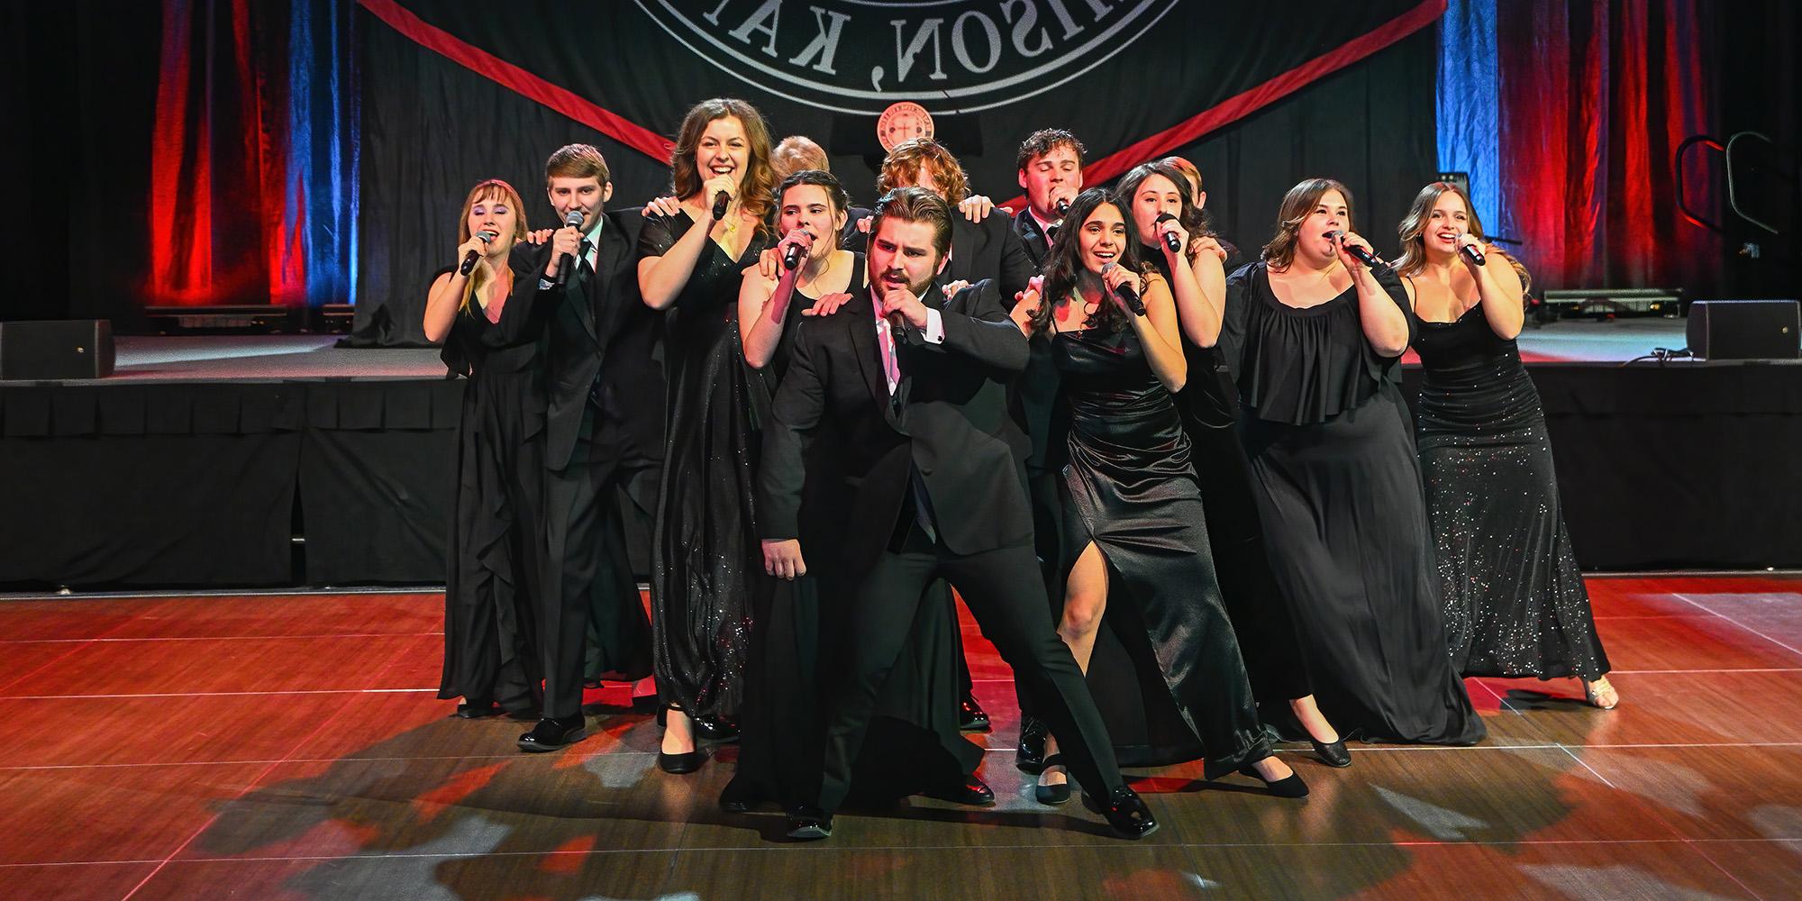
{"label": "black satin gown with a high leg slit", "polygon": [[[1070,418],[1063,559],[1078,560],[1090,542],[1106,559],[1103,622],[1141,676],[1130,679],[1137,690],[1110,692],[1108,674],[1097,672],[1106,660],[1090,658],[1090,692],[1115,746],[1141,723],[1150,735],[1148,746],[1119,748],[1121,760],[1153,766],[1206,757],[1213,778],[1267,757],[1270,746],[1220,602],[1177,404],[1130,326],[1054,332],[1051,353]],[[1146,687],[1157,683],[1162,690]],[[1175,715],[1160,715],[1164,710]]]}

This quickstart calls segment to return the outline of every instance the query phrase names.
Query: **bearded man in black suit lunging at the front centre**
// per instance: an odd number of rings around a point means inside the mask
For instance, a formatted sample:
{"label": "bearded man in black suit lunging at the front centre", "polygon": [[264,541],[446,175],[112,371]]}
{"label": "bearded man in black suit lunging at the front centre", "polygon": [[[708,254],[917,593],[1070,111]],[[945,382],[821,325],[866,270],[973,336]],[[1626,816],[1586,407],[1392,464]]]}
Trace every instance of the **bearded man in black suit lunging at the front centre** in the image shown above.
{"label": "bearded man in black suit lunging at the front centre", "polygon": [[946,578],[984,634],[1034,687],[1070,769],[1121,834],[1157,827],[1126,786],[1076,660],[1058,638],[1033,555],[1022,436],[1007,382],[1027,360],[993,281],[944,297],[935,276],[951,243],[950,205],[897,187],[876,205],[870,287],[804,321],[764,432],[764,568],[805,573],[798,533],[805,450],[827,441],[860,519],[842,564],[863,573],[847,596],[847,670],[827,717],[816,809],[791,813],[793,838],[825,838],[851,787],[876,694],[906,642],[923,589]]}

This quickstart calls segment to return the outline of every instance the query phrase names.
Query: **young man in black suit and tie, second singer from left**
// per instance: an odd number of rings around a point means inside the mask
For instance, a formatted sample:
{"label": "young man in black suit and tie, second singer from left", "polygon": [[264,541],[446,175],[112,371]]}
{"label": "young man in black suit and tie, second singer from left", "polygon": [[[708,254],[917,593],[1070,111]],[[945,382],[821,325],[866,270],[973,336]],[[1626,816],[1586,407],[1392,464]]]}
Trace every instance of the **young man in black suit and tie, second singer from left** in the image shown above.
{"label": "young man in black suit and tie, second singer from left", "polygon": [[589,144],[551,153],[544,184],[557,216],[578,211],[582,225],[551,238],[551,254],[573,268],[544,337],[544,717],[519,737],[526,751],[587,735],[584,670],[651,674],[651,622],[625,553],[622,499],[649,515],[663,460],[660,321],[640,303],[633,268],[640,218],[605,213],[613,182]]}

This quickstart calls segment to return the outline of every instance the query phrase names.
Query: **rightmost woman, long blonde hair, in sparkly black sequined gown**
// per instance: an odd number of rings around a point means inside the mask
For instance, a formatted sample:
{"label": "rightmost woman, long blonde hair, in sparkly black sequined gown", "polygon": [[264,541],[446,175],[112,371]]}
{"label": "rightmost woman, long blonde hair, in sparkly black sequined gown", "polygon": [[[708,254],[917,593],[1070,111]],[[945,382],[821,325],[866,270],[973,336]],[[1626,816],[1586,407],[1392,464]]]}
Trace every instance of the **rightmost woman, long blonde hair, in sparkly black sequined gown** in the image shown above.
{"label": "rightmost woman, long blonde hair, in sparkly black sequined gown", "polygon": [[1523,272],[1483,245],[1469,196],[1445,182],[1415,196],[1400,236],[1397,272],[1420,317],[1415,434],[1452,667],[1575,676],[1591,705],[1613,708],[1620,694],[1559,512],[1546,416],[1514,344]]}

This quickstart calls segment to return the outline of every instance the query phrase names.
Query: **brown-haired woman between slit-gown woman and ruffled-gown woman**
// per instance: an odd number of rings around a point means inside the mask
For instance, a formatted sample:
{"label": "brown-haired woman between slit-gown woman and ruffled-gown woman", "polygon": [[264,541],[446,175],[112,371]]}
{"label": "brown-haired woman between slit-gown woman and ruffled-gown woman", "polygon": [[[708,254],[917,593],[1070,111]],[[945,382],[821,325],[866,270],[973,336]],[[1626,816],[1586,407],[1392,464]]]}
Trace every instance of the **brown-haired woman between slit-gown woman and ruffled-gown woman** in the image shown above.
{"label": "brown-haired woman between slit-gown woman and ruffled-gown woman", "polygon": [[[1265,553],[1258,501],[1251,488],[1251,461],[1238,434],[1238,398],[1215,344],[1225,297],[1225,270],[1220,261],[1229,254],[1229,245],[1207,227],[1191,193],[1193,184],[1182,169],[1159,160],[1128,171],[1121,178],[1119,195],[1132,205],[1139,252],[1173,285],[1177,297],[1182,351],[1189,364],[1189,378],[1177,395],[1177,407],[1182,411],[1182,431],[1195,449],[1191,460],[1207,512],[1207,541],[1220,593],[1265,719],[1290,733],[1299,724],[1321,760],[1350,766],[1352,755],[1314,701],[1292,604],[1278,586]],[[1114,726],[1115,741],[1123,741],[1123,732]],[[1124,751],[1121,759],[1132,760]]]}

